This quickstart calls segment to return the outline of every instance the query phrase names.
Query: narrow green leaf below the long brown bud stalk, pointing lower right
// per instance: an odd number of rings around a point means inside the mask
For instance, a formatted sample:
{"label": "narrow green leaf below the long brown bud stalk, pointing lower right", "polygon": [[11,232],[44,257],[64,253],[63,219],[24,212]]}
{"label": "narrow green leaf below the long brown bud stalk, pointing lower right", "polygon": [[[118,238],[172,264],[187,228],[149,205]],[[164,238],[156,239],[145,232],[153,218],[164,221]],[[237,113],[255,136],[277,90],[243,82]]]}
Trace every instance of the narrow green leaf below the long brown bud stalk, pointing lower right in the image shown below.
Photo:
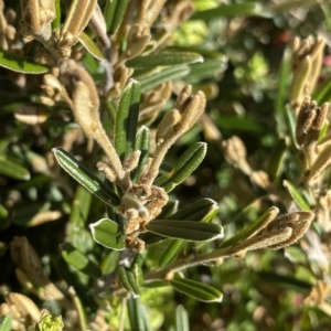
{"label": "narrow green leaf below the long brown bud stalk, pointing lower right", "polygon": [[216,288],[205,285],[203,282],[188,279],[188,278],[175,278],[169,280],[170,285],[178,291],[193,297],[204,302],[221,302],[222,292]]}

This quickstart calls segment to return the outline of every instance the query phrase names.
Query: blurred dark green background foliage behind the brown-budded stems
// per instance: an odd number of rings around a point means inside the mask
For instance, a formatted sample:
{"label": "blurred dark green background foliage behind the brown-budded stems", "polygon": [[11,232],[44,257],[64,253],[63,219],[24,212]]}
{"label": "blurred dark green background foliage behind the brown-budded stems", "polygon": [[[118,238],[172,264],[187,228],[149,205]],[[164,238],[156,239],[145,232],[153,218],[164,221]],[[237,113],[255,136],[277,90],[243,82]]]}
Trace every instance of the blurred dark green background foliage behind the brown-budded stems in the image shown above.
{"label": "blurred dark green background foliage behind the brown-budded stems", "polygon": [[[178,2],[167,2],[164,15],[161,12],[156,29],[167,24],[164,18]],[[299,183],[301,169],[289,146],[285,146],[280,172],[273,174],[270,170],[279,139],[288,139],[289,136],[285,117],[291,79],[288,45],[295,35],[324,38],[325,56],[319,79],[320,84],[330,79],[331,7],[330,1],[250,1],[256,9],[246,12],[247,1],[193,2],[195,13],[175,30],[169,47],[200,53],[205,60],[221,62],[222,70],[212,74],[206,70],[205,76],[192,74],[183,78],[195,90],[206,93],[206,115],[171,149],[164,169],[170,168],[173,160],[193,142],[207,141],[203,163],[171,195],[180,201],[181,206],[201,197],[215,200],[220,206],[217,217],[225,227],[225,236],[229,237],[271,205],[271,193],[273,203],[281,212],[291,209],[287,205],[290,200],[282,180]],[[217,11],[224,3],[236,6],[235,11]],[[4,4],[7,9],[20,12],[19,1],[4,1]],[[99,4],[104,7],[105,1],[99,1]],[[14,22],[18,26],[19,20]],[[24,47],[30,47],[29,52],[33,54],[33,44]],[[97,61],[88,53],[82,61],[95,82],[100,82],[104,73]],[[24,85],[22,79],[24,75],[0,67],[0,293],[3,296],[8,290],[22,292],[52,314],[62,313],[64,319],[70,319],[55,301],[41,300],[18,281],[15,265],[8,249],[9,242],[13,236],[26,236],[41,257],[46,276],[60,287],[65,287],[65,281],[76,281],[68,277],[78,277],[82,293],[90,279],[77,276],[77,273],[70,274],[67,266],[58,264],[58,245],[64,237],[71,236],[71,243],[77,248],[93,260],[102,261],[104,274],[115,268],[118,253],[105,252],[95,245],[86,225],[103,216],[103,203],[89,193],[77,191],[79,185],[74,180],[50,170],[46,161],[51,149],[60,141],[71,140],[68,143],[73,143],[77,154],[86,154],[90,141],[82,136],[70,111],[58,105],[46,108],[40,104],[38,120],[42,122],[26,125],[15,118],[17,109],[39,104],[41,94],[40,76],[29,76],[29,85],[20,88]],[[173,89],[178,90],[181,86],[182,81],[174,82]],[[163,110],[171,108],[172,103],[170,100]],[[255,185],[248,175],[226,162],[222,142],[233,136],[244,141],[252,169],[269,174],[271,191],[266,192]],[[100,150],[96,146],[87,149],[90,153],[84,162],[94,168]],[[12,169],[8,169],[9,161],[13,163]],[[78,211],[73,204],[77,196],[85,202]],[[85,217],[90,220],[86,224],[83,223]],[[83,227],[78,235],[76,227]],[[149,268],[157,266],[163,245],[161,243],[148,250],[146,265]],[[207,249],[211,244],[204,245]],[[243,259],[226,259],[222,266],[190,268],[188,278],[212,284],[222,290],[221,303],[200,302],[174,292],[170,287],[146,288],[140,300],[146,303],[153,330],[179,331],[174,313],[178,307],[188,311],[192,331],[330,330],[330,310],[328,313],[305,301],[321,273],[318,266],[311,265],[299,243],[279,252],[250,252]],[[328,279],[330,281],[330,274]],[[76,292],[81,295],[77,289]],[[89,312],[95,312],[94,306],[100,305],[84,295],[81,300]],[[105,312],[106,320],[117,330],[120,305],[116,298],[107,300],[111,310]],[[330,305],[330,297],[327,302]],[[128,320],[126,329],[130,329]]]}

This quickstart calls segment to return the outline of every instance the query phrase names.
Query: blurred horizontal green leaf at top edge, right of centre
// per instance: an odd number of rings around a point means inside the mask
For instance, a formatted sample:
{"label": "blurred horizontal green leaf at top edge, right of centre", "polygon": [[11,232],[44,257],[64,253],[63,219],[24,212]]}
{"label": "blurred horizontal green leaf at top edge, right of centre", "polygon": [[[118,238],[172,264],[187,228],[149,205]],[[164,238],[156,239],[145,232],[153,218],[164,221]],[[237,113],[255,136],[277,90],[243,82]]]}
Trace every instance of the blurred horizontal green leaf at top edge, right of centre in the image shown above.
{"label": "blurred horizontal green leaf at top edge, right of centre", "polygon": [[218,4],[216,8],[197,11],[190,20],[210,21],[216,18],[250,17],[258,15],[270,18],[273,13],[258,2],[244,1],[242,3]]}

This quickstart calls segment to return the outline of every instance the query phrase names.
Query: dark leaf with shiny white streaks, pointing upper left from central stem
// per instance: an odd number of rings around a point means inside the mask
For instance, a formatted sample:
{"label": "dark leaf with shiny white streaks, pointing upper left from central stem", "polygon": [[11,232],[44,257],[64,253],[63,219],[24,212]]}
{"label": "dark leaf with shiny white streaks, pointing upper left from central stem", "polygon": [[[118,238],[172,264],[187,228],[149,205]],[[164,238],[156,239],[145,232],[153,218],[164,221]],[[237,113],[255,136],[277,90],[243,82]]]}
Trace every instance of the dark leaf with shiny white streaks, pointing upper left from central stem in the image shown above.
{"label": "dark leaf with shiny white streaks, pointing upper left from central stem", "polygon": [[120,200],[96,174],[62,148],[52,149],[57,163],[81,185],[109,205],[119,205]]}

